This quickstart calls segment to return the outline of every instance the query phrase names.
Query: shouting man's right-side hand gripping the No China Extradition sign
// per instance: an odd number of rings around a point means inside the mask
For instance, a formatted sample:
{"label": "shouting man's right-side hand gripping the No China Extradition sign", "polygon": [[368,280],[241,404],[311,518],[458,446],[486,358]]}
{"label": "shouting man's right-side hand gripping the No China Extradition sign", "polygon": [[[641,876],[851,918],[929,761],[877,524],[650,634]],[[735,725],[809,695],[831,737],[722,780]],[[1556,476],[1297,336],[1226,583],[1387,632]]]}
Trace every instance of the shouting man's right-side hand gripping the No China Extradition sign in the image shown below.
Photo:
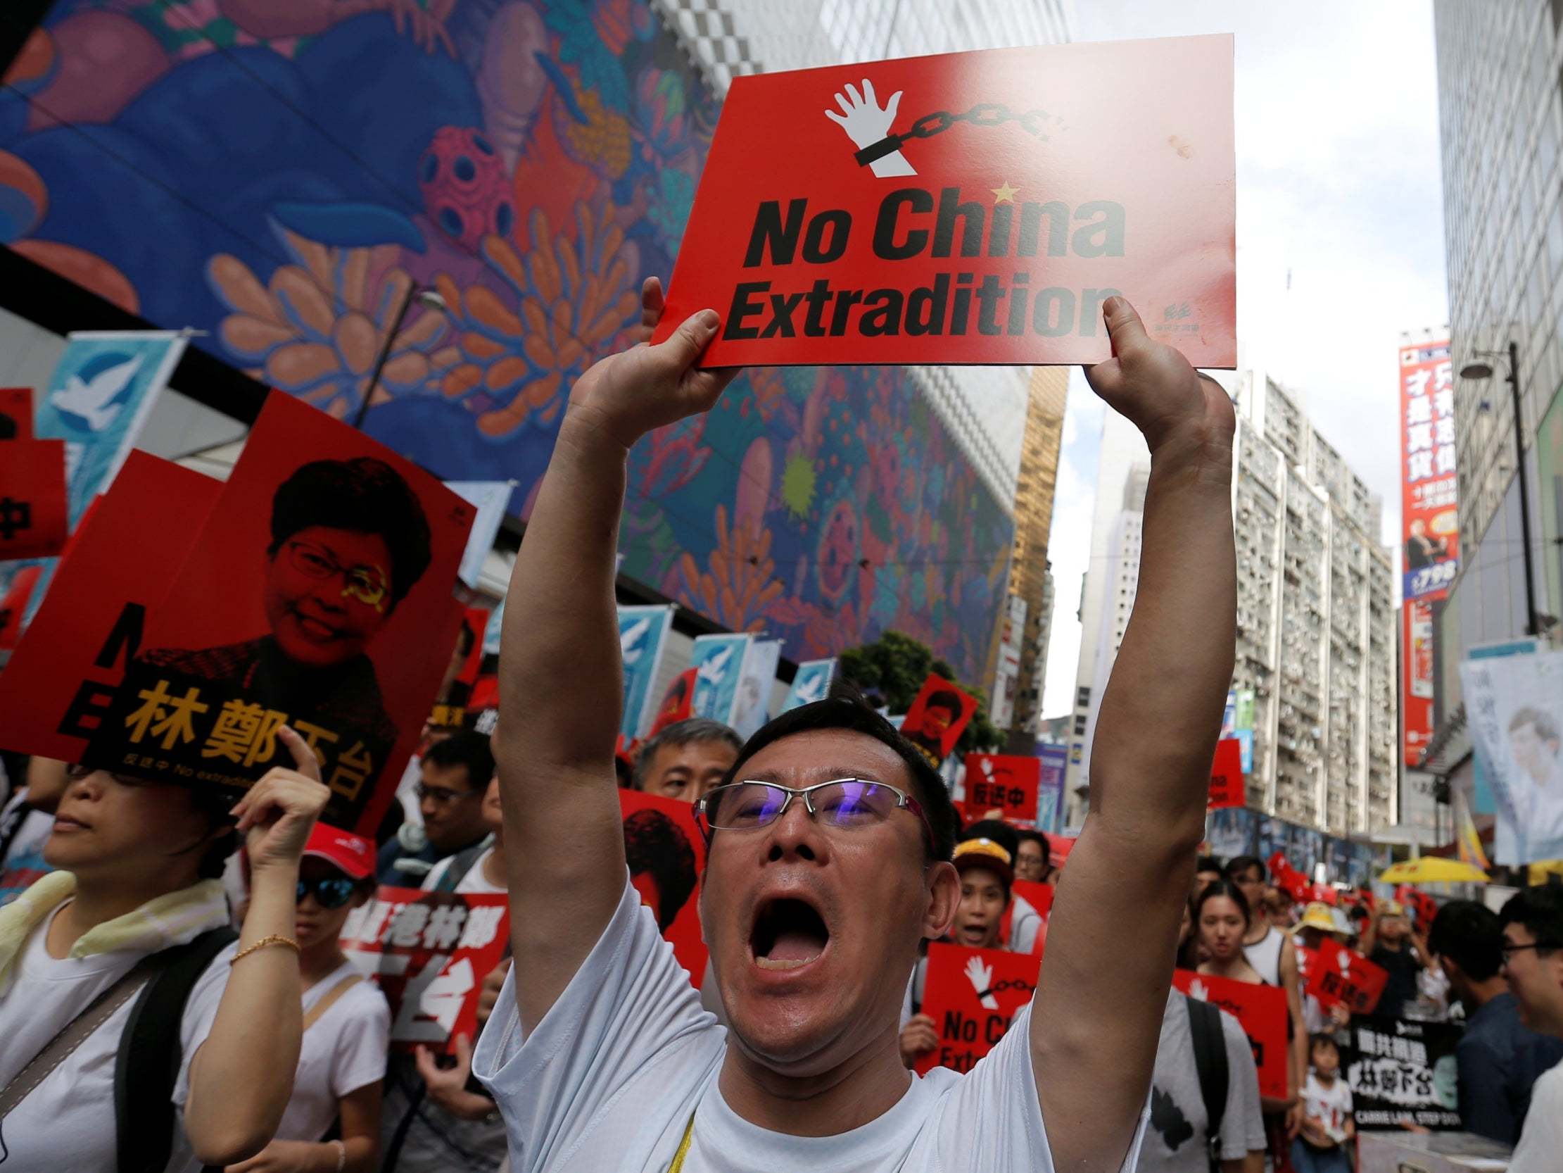
{"label": "shouting man's right-side hand gripping the No China Extradition sign", "polygon": [[1177,452],[1230,480],[1238,418],[1227,393],[1179,350],[1153,341],[1127,299],[1108,297],[1102,313],[1113,357],[1086,368],[1091,389],[1139,429],[1152,457]]}

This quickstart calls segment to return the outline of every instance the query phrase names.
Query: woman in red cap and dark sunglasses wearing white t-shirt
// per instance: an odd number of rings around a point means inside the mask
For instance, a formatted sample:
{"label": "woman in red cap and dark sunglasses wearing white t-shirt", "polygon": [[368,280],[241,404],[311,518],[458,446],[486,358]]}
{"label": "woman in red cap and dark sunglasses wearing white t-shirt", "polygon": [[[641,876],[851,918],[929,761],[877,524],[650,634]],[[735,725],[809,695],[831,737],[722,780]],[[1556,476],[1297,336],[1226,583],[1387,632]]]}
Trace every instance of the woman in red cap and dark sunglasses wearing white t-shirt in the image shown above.
{"label": "woman in red cap and dark sunglasses wearing white t-shirt", "polygon": [[299,862],[294,912],[303,1045],[292,1098],[277,1139],[227,1173],[372,1173],[380,1165],[391,1009],[338,943],[347,915],[374,893],[374,871],[369,840],[316,824]]}

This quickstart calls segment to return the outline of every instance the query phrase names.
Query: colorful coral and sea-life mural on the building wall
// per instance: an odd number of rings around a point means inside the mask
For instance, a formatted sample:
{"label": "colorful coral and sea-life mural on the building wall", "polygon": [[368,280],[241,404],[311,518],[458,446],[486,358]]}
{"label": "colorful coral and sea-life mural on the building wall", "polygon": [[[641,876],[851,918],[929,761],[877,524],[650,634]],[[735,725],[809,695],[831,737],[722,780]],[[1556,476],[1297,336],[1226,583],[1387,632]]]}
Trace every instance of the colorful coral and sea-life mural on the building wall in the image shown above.
{"label": "colorful coral and sea-life mural on the building wall", "polygon": [[[666,280],[716,103],[636,0],[59,0],[0,94],[0,242],[525,516]],[[753,371],[631,458],[624,571],[796,660],[977,679],[1011,526],[894,369]]]}

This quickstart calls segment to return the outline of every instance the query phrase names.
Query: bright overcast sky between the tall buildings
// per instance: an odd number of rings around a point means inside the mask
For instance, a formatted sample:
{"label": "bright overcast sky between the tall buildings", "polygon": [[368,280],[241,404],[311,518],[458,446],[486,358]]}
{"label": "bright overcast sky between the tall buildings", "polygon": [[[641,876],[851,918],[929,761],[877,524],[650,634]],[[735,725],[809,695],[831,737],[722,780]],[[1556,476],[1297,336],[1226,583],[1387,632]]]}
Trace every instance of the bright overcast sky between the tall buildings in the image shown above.
{"label": "bright overcast sky between the tall buildings", "polygon": [[[1396,347],[1447,319],[1430,0],[1075,0],[1077,39],[1236,34],[1238,341],[1400,522]],[[1291,288],[1288,289],[1288,271]],[[1069,388],[1043,712],[1071,712],[1100,404]]]}

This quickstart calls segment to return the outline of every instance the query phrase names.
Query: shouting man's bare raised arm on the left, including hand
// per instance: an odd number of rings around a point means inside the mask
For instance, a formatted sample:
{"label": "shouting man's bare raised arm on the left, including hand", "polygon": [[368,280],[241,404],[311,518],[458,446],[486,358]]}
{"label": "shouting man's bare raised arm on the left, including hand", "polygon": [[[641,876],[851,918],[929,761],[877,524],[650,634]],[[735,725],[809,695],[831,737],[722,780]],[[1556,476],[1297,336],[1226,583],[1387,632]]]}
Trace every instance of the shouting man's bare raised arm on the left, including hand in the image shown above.
{"label": "shouting man's bare raised arm on the left, including hand", "polygon": [[[642,305],[649,335],[663,307],[655,278]],[[636,439],[708,410],[731,380],[694,368],[717,324],[705,310],[660,346],[605,358],[577,380],[510,577],[494,743],[525,1031],[569,985],[624,893],[613,568],[625,465]]]}

